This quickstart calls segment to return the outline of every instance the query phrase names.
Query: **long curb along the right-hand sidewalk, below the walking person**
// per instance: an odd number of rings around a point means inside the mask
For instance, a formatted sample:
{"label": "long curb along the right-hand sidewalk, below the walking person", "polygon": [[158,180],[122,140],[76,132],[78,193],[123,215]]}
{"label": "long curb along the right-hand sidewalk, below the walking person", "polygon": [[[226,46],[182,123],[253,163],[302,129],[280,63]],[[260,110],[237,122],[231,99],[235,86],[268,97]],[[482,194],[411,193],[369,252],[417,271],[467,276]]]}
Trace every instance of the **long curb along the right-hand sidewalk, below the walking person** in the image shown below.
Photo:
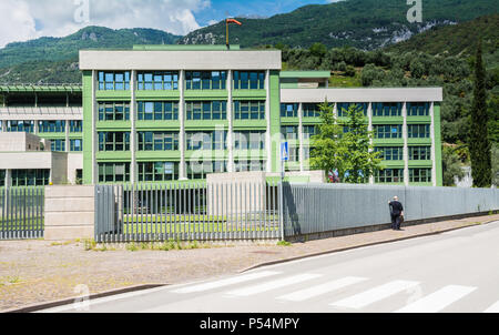
{"label": "long curb along the right-hand sidewalk, below the walking person", "polygon": [[[479,224],[480,225],[481,224],[489,224],[491,222],[498,222],[498,221],[497,220],[491,220],[491,221],[480,222]],[[299,260],[309,258],[309,257],[323,256],[323,255],[327,255],[327,254],[334,254],[334,253],[339,253],[339,252],[355,250],[355,248],[360,248],[360,247],[366,247],[366,246],[374,246],[374,245],[387,244],[387,243],[393,243],[393,242],[413,240],[413,238],[417,238],[417,237],[438,235],[438,234],[441,234],[441,233],[447,233],[447,232],[451,232],[451,231],[462,230],[462,229],[467,229],[467,227],[476,226],[476,225],[477,225],[476,223],[471,223],[471,224],[468,224],[468,225],[452,227],[452,229],[442,230],[442,231],[438,231],[438,232],[424,233],[424,234],[419,234],[419,235],[413,235],[413,236],[406,236],[406,237],[399,237],[399,238],[386,240],[386,241],[379,241],[379,242],[373,242],[373,243],[366,243],[366,244],[358,244],[358,245],[347,246],[347,247],[343,247],[343,248],[335,248],[335,250],[327,250],[327,251],[310,253],[310,254],[306,254],[306,255],[302,255],[302,256],[295,256],[295,257],[289,257],[289,258],[284,258],[284,260],[264,262],[264,263],[259,263],[259,264],[256,264],[256,265],[252,265],[252,266],[249,266],[247,268],[244,268],[244,270],[240,271],[238,273],[245,273],[245,272],[248,272],[248,271],[252,271],[252,270],[255,270],[255,268],[259,268],[259,267],[264,267],[264,266],[268,266],[268,265],[288,263],[288,262],[293,262],[293,261],[299,261]]]}

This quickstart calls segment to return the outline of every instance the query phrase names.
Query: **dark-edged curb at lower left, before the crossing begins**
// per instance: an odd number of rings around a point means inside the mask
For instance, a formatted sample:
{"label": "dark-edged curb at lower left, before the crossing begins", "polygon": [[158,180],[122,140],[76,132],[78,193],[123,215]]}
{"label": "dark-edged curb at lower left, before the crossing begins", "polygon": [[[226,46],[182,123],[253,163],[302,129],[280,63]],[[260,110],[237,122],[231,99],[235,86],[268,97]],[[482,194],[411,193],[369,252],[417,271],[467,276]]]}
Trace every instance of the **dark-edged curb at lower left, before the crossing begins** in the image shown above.
{"label": "dark-edged curb at lower left, before the crossing begins", "polygon": [[[102,293],[95,293],[95,294],[88,296],[88,298],[96,300],[96,298],[101,298],[101,297],[108,297],[108,296],[119,295],[119,294],[123,294],[123,293],[146,291],[146,290],[167,286],[167,285],[170,285],[170,284],[135,285],[135,286],[130,286],[130,287],[124,287],[124,288],[111,290],[111,291],[106,291],[106,292],[102,292]],[[38,311],[42,311],[42,309],[69,305],[69,304],[74,303],[74,301],[78,298],[81,298],[81,296],[75,296],[75,297],[70,297],[70,298],[64,298],[61,301],[53,301],[53,302],[48,302],[48,303],[42,303],[42,304],[28,305],[28,306],[23,306],[20,308],[0,311],[0,313],[32,313],[32,312],[38,312]]]}

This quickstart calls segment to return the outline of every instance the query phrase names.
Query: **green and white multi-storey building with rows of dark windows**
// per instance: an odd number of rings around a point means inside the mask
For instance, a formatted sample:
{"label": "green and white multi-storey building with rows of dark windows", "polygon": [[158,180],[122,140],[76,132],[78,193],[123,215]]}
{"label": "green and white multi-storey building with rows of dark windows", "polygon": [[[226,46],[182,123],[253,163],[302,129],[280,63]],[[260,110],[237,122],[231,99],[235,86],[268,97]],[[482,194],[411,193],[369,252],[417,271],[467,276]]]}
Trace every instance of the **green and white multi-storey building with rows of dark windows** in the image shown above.
{"label": "green and white multi-storey building with rows of dark windows", "polygon": [[371,183],[441,185],[440,88],[334,89],[328,71],[281,71],[278,50],[141,45],[80,51],[86,184],[308,171],[318,103],[359,105],[387,169]]}

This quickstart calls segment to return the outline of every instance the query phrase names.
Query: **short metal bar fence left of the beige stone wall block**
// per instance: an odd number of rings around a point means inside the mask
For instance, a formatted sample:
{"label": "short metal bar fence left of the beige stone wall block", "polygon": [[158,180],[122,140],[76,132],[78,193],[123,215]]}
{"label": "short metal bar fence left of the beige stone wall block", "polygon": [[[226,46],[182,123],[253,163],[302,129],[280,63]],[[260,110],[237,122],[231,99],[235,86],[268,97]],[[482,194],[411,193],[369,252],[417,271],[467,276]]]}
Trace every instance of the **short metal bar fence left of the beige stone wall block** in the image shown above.
{"label": "short metal bar fence left of the beige stone wall block", "polygon": [[43,237],[44,187],[3,187],[0,193],[0,240]]}

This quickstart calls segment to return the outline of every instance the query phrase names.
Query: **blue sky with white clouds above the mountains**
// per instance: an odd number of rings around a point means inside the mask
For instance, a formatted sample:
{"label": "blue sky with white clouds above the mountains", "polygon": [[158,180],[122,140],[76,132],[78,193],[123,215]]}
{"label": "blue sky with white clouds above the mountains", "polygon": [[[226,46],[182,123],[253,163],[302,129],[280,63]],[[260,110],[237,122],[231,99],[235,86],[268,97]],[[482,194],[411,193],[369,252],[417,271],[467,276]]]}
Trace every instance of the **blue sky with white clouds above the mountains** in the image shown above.
{"label": "blue sky with white clouds above the mountains", "polygon": [[0,0],[0,48],[40,37],[64,37],[86,26],[153,28],[174,34],[226,17],[272,17],[339,0]]}

